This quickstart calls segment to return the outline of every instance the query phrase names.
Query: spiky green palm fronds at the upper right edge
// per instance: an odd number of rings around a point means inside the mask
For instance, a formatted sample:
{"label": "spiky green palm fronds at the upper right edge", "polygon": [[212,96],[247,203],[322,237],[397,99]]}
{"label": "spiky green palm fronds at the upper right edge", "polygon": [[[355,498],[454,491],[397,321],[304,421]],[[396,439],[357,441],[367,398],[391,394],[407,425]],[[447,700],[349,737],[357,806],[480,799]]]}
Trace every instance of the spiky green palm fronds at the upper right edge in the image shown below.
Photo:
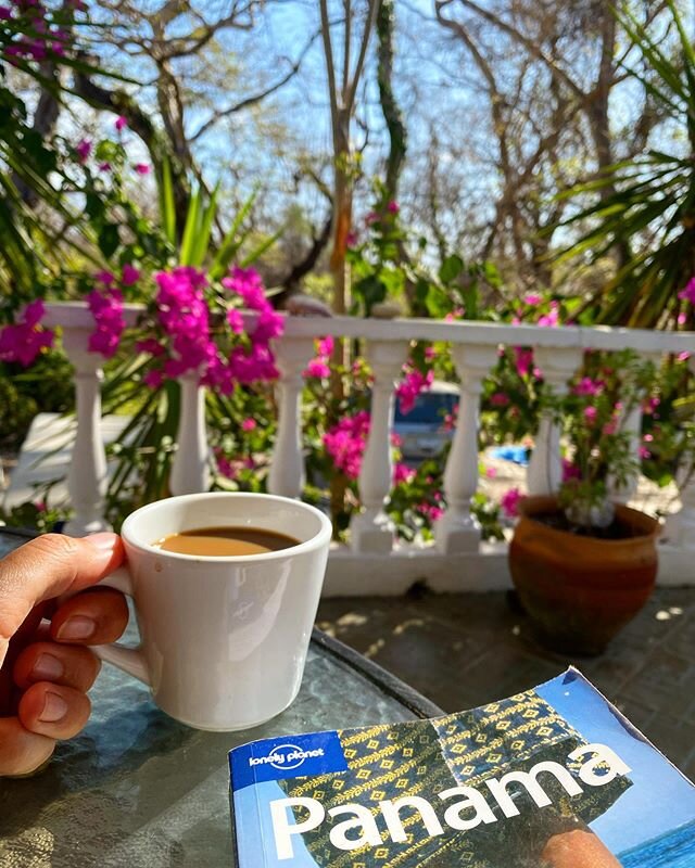
{"label": "spiky green palm fronds at the upper right edge", "polygon": [[[647,69],[627,72],[684,137],[674,137],[673,153],[649,150],[564,194],[597,199],[559,225],[568,232],[583,230],[557,253],[558,263],[582,257],[595,264],[618,248],[630,252],[591,299],[599,321],[608,324],[674,327],[683,312],[679,292],[695,273],[695,49],[673,0],[666,0],[666,9],[675,36],[673,56],[627,8],[616,14]],[[683,141],[686,152],[680,152]]]}

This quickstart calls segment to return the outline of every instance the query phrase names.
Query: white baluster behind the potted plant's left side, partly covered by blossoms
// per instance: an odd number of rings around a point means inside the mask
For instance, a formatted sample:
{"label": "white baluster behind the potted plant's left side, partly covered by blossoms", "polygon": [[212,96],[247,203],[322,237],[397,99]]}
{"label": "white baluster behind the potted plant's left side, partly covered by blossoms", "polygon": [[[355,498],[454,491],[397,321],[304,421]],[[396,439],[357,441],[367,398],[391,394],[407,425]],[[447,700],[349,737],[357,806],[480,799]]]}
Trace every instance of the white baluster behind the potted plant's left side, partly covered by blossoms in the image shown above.
{"label": "white baluster behind the potted plant's left side, partly covered by blossoms", "polygon": [[[576,347],[536,347],[535,361],[543,371],[545,388],[563,397],[568,392],[567,381],[579,367],[581,349]],[[551,411],[541,417],[535,447],[527,471],[527,487],[531,495],[555,494],[563,481],[559,421]]]}

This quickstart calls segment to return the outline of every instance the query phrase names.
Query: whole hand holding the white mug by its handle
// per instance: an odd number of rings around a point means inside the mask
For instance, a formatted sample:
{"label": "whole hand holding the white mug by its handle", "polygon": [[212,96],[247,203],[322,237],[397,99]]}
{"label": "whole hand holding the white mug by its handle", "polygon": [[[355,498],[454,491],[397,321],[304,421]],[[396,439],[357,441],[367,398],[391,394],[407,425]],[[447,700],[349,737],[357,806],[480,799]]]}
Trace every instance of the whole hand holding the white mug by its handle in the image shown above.
{"label": "whole hand holding the white mug by its handle", "polygon": [[117,591],[85,589],[123,556],[115,534],[48,534],[0,561],[0,776],[36,770],[87,723],[100,667],[88,646],[117,639],[128,611]]}

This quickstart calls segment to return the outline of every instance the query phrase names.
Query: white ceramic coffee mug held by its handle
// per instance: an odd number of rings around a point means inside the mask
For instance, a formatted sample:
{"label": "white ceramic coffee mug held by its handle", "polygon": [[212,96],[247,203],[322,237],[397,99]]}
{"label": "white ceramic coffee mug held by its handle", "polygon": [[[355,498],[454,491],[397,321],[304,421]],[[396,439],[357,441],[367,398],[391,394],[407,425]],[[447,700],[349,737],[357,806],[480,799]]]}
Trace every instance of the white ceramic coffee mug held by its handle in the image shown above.
{"label": "white ceramic coffee mug held by its handle", "polygon": [[[280,551],[198,557],[154,542],[203,527],[257,527],[299,540]],[[141,644],[97,654],[149,685],[162,711],[198,729],[253,727],[300,689],[331,524],[299,500],[199,494],[150,503],[121,531],[127,567],[102,585],[132,597]]]}

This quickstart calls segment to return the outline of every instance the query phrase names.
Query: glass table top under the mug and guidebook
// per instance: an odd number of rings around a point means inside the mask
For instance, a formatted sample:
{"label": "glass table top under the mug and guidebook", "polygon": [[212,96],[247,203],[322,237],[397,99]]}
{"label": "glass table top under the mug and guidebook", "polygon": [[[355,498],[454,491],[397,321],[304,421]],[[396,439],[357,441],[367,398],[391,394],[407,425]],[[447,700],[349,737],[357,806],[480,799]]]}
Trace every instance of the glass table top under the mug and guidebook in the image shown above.
{"label": "glass table top under the mug and guidebook", "polygon": [[[25,541],[0,529],[0,556]],[[129,627],[126,640],[136,640]],[[227,752],[257,738],[414,719],[438,710],[316,633],[294,703],[232,733],[178,724],[144,685],[104,664],[92,716],[50,765],[0,779],[2,868],[229,868]]]}

